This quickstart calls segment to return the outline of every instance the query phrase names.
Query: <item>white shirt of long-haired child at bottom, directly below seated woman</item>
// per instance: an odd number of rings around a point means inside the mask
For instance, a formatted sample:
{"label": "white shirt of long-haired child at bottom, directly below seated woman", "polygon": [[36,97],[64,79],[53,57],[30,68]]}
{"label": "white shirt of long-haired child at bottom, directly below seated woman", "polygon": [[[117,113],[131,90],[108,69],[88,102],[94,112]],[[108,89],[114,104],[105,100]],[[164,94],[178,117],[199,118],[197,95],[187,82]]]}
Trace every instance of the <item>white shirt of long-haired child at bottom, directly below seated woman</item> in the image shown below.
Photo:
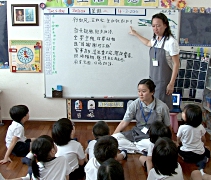
{"label": "white shirt of long-haired child at bottom, directly below seated woman", "polygon": [[157,174],[155,169],[152,168],[149,171],[147,180],[184,180],[183,178],[183,173],[182,173],[182,168],[180,166],[180,164],[178,163],[178,167],[175,169],[175,172],[177,174],[174,174],[172,176],[166,176],[166,175],[162,175],[162,174]]}

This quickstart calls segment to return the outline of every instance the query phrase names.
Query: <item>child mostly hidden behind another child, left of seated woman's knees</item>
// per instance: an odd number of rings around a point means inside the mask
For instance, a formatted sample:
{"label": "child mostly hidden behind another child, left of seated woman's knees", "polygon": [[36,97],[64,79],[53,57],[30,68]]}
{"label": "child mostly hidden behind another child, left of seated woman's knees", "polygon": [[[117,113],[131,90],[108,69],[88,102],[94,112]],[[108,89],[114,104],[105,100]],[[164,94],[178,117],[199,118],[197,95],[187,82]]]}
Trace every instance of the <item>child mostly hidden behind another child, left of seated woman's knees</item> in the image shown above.
{"label": "child mostly hidden behind another child, left of seated woman's knees", "polygon": [[[91,159],[92,157],[94,157],[94,146],[98,139],[110,134],[108,124],[105,121],[98,121],[92,128],[92,134],[94,135],[95,139],[89,142],[88,147],[85,150],[86,156],[88,156],[87,159]],[[127,159],[126,150],[122,150],[117,155],[118,161],[121,161],[123,159]]]}

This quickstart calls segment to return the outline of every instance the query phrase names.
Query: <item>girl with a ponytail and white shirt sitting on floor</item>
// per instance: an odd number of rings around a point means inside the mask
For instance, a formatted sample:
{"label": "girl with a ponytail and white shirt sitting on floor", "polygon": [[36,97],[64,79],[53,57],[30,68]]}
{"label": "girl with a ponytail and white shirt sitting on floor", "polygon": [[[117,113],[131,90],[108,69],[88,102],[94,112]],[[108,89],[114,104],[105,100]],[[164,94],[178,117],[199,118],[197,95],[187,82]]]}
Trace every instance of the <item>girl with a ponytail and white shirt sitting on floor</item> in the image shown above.
{"label": "girl with a ponytail and white shirt sitting on floor", "polygon": [[68,180],[71,169],[64,156],[55,157],[57,147],[48,135],[37,138],[32,143],[33,179]]}

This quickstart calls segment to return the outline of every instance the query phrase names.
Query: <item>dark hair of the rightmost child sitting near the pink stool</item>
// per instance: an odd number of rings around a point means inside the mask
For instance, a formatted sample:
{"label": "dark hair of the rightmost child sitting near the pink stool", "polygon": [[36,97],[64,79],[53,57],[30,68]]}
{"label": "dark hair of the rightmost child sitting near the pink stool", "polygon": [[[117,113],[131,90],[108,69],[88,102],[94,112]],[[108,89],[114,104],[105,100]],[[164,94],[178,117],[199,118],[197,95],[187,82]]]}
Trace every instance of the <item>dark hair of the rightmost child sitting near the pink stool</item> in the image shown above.
{"label": "dark hair of the rightmost child sitting near the pink stool", "polygon": [[188,104],[184,107],[186,121],[185,124],[198,127],[202,123],[202,110],[198,105]]}

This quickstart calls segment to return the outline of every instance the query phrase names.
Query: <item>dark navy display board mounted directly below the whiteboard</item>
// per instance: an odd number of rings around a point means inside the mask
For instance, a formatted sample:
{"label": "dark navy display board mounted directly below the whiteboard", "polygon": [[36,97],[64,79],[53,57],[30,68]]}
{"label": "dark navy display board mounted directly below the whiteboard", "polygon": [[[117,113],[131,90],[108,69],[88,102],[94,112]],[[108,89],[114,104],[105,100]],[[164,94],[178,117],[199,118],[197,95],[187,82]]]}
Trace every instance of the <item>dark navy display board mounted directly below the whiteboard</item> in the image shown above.
{"label": "dark navy display board mounted directly below the whiteboard", "polygon": [[67,117],[75,121],[119,121],[134,99],[67,99]]}

